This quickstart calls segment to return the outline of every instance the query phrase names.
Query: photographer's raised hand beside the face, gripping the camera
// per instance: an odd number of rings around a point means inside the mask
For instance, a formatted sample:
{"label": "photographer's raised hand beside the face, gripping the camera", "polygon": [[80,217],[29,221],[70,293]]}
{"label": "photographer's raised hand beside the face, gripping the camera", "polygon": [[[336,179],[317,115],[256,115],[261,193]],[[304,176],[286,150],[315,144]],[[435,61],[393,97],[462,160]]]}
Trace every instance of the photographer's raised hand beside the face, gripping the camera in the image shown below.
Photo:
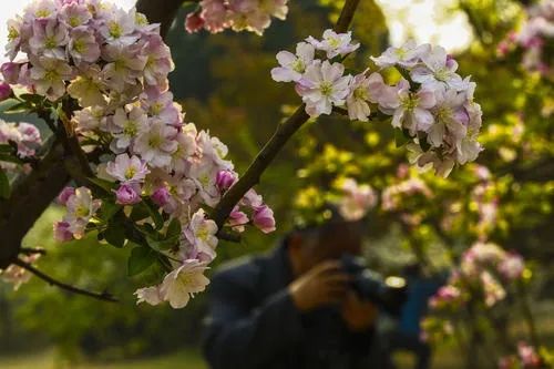
{"label": "photographer's raised hand beside the face, gripping the camera", "polygon": [[288,290],[300,311],[339,304],[349,289],[349,276],[339,262],[324,262],[294,280]]}

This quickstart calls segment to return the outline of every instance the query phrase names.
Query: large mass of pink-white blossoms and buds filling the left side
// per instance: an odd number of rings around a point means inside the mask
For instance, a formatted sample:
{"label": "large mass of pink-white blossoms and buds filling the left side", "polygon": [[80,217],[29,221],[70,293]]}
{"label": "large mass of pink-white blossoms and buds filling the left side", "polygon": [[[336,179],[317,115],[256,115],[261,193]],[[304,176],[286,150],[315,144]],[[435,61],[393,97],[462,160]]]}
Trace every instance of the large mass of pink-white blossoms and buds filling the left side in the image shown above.
{"label": "large mass of pink-white blossoms and buds filling the left side", "polygon": [[[135,9],[124,11],[101,0],[34,1],[22,17],[9,21],[7,51],[12,61],[1,71],[6,81],[45,96],[58,110],[74,99],[79,110],[65,113],[70,125],[79,139],[104,151],[94,167],[102,188],[68,187],[60,194],[66,214],[54,225],[55,237],[79,239],[89,230],[106,229],[106,214],[114,207],[126,221],[134,206],[151,211],[136,221],[136,230],[154,229],[145,224],[156,219],[163,222],[156,224],[162,229],[177,223],[181,234],[174,245],[157,250],[170,264],[165,278],[136,295],[138,301],[168,301],[181,308],[204,290],[204,271],[216,256],[219,229],[205,208],[217,205],[238,175],[226,160],[225,144],[184,122],[168,91],[174,64],[158,29]],[[27,58],[13,61],[20,52]],[[18,129],[22,135],[31,132],[24,124]],[[22,150],[40,136],[25,140]],[[265,233],[275,229],[273,211],[254,189],[226,226],[243,232],[247,224]]]}

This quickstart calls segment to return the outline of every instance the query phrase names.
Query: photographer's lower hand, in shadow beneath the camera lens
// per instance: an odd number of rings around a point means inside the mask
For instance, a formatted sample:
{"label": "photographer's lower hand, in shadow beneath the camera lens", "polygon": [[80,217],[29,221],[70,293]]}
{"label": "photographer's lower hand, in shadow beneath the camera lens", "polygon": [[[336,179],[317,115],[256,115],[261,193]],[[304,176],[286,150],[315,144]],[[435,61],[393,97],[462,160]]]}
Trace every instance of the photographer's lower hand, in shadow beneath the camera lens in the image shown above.
{"label": "photographer's lower hand, in shadow beneath the camera lens", "polygon": [[377,307],[362,300],[353,290],[349,290],[342,304],[342,319],[350,331],[365,331],[371,328],[377,319]]}

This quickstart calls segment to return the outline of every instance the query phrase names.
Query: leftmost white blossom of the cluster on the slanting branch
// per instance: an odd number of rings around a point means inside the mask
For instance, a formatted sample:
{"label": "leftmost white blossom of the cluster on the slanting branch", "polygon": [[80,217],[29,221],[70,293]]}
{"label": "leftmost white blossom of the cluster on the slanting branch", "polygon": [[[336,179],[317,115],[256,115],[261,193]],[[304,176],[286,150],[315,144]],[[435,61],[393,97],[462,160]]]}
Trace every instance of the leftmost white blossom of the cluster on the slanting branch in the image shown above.
{"label": "leftmost white blossom of the cluster on the slanting branch", "polygon": [[312,44],[300,42],[296,45],[296,55],[288,51],[279,51],[277,61],[280,66],[271,69],[271,78],[277,82],[297,82],[306,68],[314,61],[316,49]]}

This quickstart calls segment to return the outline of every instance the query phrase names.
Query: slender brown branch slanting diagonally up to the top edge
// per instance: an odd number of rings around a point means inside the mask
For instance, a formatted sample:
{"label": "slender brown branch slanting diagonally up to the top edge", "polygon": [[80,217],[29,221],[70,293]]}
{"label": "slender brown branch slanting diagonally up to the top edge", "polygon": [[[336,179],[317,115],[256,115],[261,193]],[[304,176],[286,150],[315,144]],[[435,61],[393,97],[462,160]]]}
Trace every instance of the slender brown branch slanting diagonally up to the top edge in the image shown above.
{"label": "slender brown branch slanting diagonally up to the top edge", "polygon": [[[346,0],[339,20],[335,25],[336,32],[346,32],[348,30],[359,2],[360,0]],[[254,158],[246,173],[222,197],[222,201],[211,214],[211,217],[215,221],[219,229],[222,229],[225,219],[227,219],[235,205],[243,198],[246,192],[259,183],[261,174],[274,161],[283,146],[308,121],[309,116],[306,114],[305,107],[304,104],[299,106],[288,120],[277,126],[274,135]]]}

